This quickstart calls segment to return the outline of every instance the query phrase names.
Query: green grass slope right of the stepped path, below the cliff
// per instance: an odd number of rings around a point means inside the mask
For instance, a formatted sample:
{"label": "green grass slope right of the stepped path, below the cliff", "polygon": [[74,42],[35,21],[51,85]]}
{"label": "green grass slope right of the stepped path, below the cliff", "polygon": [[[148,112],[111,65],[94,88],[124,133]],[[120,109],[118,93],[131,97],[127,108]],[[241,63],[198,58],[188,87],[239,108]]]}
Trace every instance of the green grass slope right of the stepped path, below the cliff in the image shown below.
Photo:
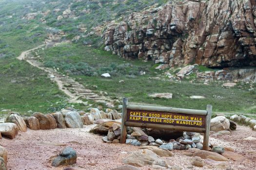
{"label": "green grass slope right of the stepped path, below the cliff", "polygon": [[[163,71],[156,70],[158,65],[152,62],[127,61],[110,52],[91,49],[79,44],[63,46],[41,51],[40,56],[43,56],[44,60],[53,61],[63,72],[71,73],[70,76],[79,80],[87,88],[93,89],[93,86],[97,85],[98,91],[106,91],[113,99],[121,100],[122,97],[128,97],[129,101],[134,103],[203,110],[206,109],[207,104],[212,104],[214,112],[252,111],[254,113],[254,109],[248,110],[248,108],[254,106],[256,95],[248,91],[247,87],[240,88],[237,85],[233,88],[225,88],[221,87],[223,84],[221,81],[212,82],[210,85],[203,85],[203,82],[199,81],[191,83],[190,80],[195,78],[193,74],[181,82],[170,82],[167,79],[157,80],[155,78]],[[63,69],[61,62],[58,63],[58,61],[74,66],[79,62],[84,62],[87,67],[95,70],[112,67],[115,72],[111,73],[110,79],[102,78],[99,74],[76,74]],[[121,66],[123,71],[114,66]],[[102,72],[113,70],[106,69]],[[139,70],[145,70],[146,74],[138,74]],[[119,83],[120,80],[124,80],[124,83]],[[173,99],[153,99],[148,97],[150,93],[173,93]],[[204,96],[206,99],[190,99],[193,95]]]}

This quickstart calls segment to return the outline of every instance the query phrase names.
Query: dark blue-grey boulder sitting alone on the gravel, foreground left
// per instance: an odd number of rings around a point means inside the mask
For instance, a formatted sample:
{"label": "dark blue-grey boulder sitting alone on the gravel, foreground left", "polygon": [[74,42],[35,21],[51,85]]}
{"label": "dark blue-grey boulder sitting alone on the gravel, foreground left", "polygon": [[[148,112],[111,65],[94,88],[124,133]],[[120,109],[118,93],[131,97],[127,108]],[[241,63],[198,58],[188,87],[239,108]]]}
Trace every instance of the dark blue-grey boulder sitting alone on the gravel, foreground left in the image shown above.
{"label": "dark blue-grey boulder sitting alone on the gravel, foreground left", "polygon": [[77,152],[70,147],[66,147],[61,151],[59,156],[57,156],[53,162],[52,166],[53,167],[59,167],[61,165],[72,165],[77,162]]}

